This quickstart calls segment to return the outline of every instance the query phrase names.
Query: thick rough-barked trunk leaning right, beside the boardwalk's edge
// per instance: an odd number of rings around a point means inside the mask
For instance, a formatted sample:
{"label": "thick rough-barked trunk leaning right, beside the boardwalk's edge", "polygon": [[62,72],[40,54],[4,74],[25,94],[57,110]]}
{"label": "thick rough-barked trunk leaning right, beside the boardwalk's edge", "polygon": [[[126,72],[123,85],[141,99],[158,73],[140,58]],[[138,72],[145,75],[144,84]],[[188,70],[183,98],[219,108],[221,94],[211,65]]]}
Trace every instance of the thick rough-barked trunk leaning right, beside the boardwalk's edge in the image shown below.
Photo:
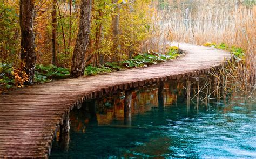
{"label": "thick rough-barked trunk leaning right, beside the boardwalk's edge", "polygon": [[85,52],[89,42],[89,33],[91,26],[91,0],[82,0],[80,11],[80,24],[77,35],[76,45],[73,52],[71,64],[71,76],[79,77],[84,75]]}

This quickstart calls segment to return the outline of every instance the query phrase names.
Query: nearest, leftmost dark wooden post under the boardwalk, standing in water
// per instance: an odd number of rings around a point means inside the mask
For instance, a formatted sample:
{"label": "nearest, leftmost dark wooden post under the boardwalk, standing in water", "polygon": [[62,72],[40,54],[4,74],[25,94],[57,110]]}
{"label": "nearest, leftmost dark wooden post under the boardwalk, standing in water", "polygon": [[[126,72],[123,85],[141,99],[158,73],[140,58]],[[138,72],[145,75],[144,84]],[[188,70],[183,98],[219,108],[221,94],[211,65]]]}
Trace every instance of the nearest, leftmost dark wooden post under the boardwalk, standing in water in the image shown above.
{"label": "nearest, leftmost dark wooden post under the boardwalk, standing in water", "polygon": [[69,150],[69,136],[70,132],[70,120],[69,120],[69,114],[66,114],[65,120],[63,121],[63,124],[60,125],[59,129],[59,146],[65,151]]}

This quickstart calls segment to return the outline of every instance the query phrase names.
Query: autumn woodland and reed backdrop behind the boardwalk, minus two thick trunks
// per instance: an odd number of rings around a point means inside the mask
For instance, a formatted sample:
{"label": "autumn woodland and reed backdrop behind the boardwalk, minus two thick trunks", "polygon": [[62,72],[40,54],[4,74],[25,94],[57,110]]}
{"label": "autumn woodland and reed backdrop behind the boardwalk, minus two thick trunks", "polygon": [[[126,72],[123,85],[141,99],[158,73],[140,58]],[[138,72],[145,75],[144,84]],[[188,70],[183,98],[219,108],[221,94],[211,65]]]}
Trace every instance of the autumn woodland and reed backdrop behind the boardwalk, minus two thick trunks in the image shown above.
{"label": "autumn woodland and reed backdrop behind the boardwalk, minus two thick trunks", "polygon": [[[19,1],[0,2],[0,77],[18,75],[21,64]],[[79,28],[80,1],[35,1],[36,63],[70,68]],[[153,50],[165,53],[171,41],[225,43],[245,51],[242,73],[255,78],[253,0],[93,0],[86,66],[131,59]],[[243,77],[244,78],[244,77]],[[25,79],[24,79],[25,80]],[[19,82],[19,81],[18,81]]]}

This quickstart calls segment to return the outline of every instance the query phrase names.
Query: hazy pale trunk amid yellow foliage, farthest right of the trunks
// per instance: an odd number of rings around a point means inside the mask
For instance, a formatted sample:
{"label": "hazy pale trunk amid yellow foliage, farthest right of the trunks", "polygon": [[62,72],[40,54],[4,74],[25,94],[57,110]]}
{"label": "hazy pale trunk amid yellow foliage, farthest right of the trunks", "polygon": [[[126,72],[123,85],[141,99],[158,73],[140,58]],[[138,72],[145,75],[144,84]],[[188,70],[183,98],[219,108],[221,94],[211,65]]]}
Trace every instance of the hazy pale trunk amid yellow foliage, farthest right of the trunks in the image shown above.
{"label": "hazy pale trunk amid yellow foliage, farthest right of the trunks", "polygon": [[118,0],[112,0],[112,3],[116,5],[116,9],[114,11],[114,14],[112,16],[112,41],[113,41],[113,59],[112,61],[117,61],[118,57],[118,48],[119,48],[119,19],[120,19],[120,6],[117,4]]}

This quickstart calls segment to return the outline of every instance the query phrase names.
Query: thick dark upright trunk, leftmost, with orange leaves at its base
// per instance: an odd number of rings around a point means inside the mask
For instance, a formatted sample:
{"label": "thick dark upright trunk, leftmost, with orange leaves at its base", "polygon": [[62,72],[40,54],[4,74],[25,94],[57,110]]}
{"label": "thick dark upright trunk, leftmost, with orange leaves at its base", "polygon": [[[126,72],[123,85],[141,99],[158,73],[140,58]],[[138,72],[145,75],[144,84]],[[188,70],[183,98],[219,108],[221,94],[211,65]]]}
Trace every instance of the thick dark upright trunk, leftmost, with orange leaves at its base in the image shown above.
{"label": "thick dark upright trunk, leftmost, with orange leaves at its base", "polygon": [[36,54],[35,36],[33,34],[34,1],[20,1],[19,25],[21,26],[21,60],[25,63],[25,71],[29,81],[25,84],[33,84],[35,74]]}

